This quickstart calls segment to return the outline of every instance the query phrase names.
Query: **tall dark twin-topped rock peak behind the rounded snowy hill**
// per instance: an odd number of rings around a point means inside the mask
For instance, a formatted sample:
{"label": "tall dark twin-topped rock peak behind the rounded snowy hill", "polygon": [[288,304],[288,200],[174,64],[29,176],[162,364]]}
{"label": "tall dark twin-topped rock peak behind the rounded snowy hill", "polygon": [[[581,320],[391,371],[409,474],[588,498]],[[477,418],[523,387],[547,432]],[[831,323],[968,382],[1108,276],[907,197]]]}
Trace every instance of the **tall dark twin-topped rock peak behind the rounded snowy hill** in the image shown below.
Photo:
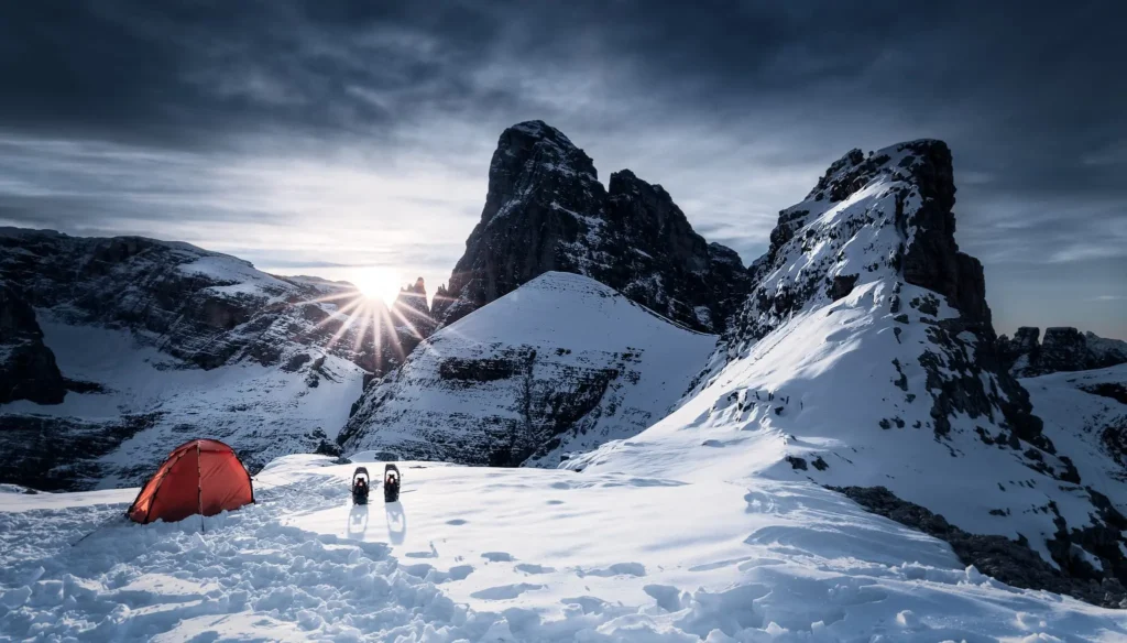
{"label": "tall dark twin-topped rock peak behind the rounded snowy hill", "polygon": [[591,276],[693,329],[720,332],[751,281],[659,185],[622,170],[607,190],[591,158],[532,121],[500,135],[481,221],[434,317],[451,324],[549,271]]}

